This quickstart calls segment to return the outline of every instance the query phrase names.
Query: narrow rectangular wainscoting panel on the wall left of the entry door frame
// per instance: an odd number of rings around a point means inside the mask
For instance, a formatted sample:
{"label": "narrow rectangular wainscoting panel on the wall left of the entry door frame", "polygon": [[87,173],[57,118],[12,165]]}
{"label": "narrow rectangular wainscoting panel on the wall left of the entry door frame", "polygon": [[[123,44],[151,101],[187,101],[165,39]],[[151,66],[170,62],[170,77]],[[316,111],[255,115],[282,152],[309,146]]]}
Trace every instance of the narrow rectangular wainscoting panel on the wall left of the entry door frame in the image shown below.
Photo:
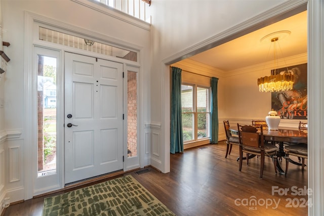
{"label": "narrow rectangular wainscoting panel on the wall left of the entry door frame", "polygon": [[9,147],[9,182],[20,181],[20,147]]}

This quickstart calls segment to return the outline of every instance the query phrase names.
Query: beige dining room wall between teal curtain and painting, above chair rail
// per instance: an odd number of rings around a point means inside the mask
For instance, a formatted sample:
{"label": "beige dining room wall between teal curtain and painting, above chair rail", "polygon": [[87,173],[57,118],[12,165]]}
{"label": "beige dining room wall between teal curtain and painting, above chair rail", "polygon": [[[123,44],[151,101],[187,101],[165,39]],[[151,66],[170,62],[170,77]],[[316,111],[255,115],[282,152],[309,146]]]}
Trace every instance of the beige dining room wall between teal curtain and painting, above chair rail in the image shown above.
{"label": "beige dining room wall between teal curtain and painting, above chair rail", "polygon": [[[278,68],[307,63],[307,54],[278,60]],[[265,119],[271,107],[271,93],[259,92],[257,80],[270,75],[273,62],[229,71],[226,77],[226,115],[232,119]],[[295,125],[297,127],[298,124]]]}

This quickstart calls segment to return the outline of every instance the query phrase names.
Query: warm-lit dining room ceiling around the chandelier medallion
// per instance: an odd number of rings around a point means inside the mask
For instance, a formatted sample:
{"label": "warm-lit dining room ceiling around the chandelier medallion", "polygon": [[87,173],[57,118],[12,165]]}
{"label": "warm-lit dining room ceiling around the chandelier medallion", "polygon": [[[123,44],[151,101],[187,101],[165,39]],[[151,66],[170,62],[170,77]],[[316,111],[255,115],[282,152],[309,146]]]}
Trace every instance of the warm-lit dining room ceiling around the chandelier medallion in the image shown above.
{"label": "warm-lit dining room ceiling around the chandelier medallion", "polygon": [[[274,34],[262,40],[262,42],[260,41],[268,34],[283,30],[291,33]],[[188,59],[223,71],[260,64],[273,60],[271,38],[277,35],[279,35],[279,47],[276,49],[277,59],[307,53],[307,11],[233,39]]]}

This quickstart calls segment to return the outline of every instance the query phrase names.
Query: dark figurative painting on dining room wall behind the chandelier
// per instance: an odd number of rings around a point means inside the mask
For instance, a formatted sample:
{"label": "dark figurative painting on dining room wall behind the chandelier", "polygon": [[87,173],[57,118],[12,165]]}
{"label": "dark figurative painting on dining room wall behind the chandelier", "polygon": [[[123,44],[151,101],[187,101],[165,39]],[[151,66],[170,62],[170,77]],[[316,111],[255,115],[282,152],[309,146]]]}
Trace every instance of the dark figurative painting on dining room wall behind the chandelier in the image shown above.
{"label": "dark figurative painting on dining room wall behind the chandelier", "polygon": [[295,75],[292,90],[271,93],[271,107],[283,119],[307,119],[307,63],[279,68],[271,74]]}

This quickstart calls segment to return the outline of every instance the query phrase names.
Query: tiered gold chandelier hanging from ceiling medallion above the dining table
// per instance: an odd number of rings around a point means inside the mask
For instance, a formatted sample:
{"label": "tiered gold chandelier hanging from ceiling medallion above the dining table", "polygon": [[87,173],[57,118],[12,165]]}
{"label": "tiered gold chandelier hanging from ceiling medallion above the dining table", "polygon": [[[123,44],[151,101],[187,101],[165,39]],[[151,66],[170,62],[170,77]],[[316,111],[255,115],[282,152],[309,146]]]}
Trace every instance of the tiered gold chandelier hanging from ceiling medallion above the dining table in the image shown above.
{"label": "tiered gold chandelier hanging from ceiling medallion above the dining table", "polygon": [[[274,34],[286,35],[290,34],[290,31],[280,31],[274,32],[269,35],[264,36],[261,41],[269,36],[273,36]],[[273,45],[273,57],[274,57],[274,66],[276,65],[276,43],[279,40],[279,37],[272,37],[271,44]],[[288,68],[287,71],[289,72]],[[270,76],[264,76],[258,78],[258,85],[260,92],[281,92],[293,89],[293,84],[295,83],[295,76],[291,73],[278,73],[276,68],[274,67],[271,70]]]}

